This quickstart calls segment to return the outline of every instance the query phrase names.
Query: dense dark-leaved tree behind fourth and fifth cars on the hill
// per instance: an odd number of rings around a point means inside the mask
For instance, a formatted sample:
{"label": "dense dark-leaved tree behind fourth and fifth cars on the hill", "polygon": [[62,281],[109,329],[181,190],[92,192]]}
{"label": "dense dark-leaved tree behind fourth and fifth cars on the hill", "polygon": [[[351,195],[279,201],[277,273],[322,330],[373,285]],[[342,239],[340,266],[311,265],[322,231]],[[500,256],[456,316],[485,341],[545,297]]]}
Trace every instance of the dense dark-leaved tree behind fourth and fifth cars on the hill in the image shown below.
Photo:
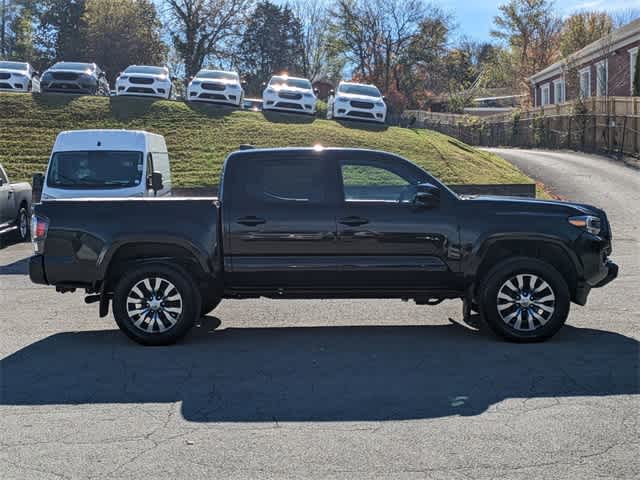
{"label": "dense dark-leaved tree behind fourth and fifth cars on the hill", "polygon": [[246,74],[247,91],[257,93],[274,73],[304,74],[302,25],[287,5],[258,3],[237,51],[237,61]]}

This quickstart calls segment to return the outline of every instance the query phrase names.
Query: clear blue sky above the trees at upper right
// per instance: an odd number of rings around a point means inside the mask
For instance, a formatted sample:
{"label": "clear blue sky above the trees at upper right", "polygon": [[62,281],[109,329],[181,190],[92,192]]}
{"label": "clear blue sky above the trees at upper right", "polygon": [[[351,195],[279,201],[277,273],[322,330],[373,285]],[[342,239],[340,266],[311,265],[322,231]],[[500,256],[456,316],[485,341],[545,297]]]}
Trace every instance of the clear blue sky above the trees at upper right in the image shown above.
{"label": "clear blue sky above the trees at upper right", "polygon": [[[434,0],[452,12],[458,23],[457,35],[466,35],[474,40],[489,40],[493,28],[493,17],[498,7],[507,0]],[[609,13],[640,7],[640,0],[557,0],[558,13],[562,16],[576,10],[605,10]]]}

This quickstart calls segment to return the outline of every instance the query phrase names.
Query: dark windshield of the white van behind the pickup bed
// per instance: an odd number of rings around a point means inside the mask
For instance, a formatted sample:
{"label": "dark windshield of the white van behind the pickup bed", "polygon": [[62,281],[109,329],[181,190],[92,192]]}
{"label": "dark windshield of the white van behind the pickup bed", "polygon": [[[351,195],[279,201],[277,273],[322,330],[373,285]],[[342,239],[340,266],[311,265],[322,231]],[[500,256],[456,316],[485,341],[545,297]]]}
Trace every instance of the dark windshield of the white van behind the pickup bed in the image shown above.
{"label": "dark windshield of the white van behind the pickup bed", "polygon": [[55,188],[123,188],[142,181],[142,152],[56,152],[47,185]]}

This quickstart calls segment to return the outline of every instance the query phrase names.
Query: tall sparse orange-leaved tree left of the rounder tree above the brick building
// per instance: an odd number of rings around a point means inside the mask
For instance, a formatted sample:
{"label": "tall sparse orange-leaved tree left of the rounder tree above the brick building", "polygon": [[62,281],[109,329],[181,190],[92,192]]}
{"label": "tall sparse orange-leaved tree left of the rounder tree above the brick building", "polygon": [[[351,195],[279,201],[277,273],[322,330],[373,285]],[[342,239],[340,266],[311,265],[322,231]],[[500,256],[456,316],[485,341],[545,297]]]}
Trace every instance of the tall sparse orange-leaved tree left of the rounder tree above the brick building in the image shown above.
{"label": "tall sparse orange-leaved tree left of the rounder tree above the brick building", "polygon": [[491,35],[509,45],[516,68],[514,87],[528,91],[527,78],[557,57],[562,22],[550,0],[509,0],[499,10]]}

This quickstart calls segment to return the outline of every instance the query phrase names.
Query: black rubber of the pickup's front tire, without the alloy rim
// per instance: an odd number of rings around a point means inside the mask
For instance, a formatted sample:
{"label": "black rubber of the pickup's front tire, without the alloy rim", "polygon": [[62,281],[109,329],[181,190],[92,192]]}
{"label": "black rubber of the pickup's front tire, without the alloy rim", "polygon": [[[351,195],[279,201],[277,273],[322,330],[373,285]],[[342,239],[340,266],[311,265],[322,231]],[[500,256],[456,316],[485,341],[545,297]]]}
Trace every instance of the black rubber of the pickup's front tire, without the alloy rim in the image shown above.
{"label": "black rubber of the pickup's front tire, without the alloy rim", "polygon": [[[553,315],[541,328],[521,332],[504,323],[497,309],[498,290],[509,278],[517,274],[535,274],[545,280],[556,296]],[[553,335],[564,325],[571,303],[567,283],[553,266],[534,258],[516,258],[496,265],[485,277],[478,296],[480,313],[491,330],[502,338],[513,342],[540,342]]]}

